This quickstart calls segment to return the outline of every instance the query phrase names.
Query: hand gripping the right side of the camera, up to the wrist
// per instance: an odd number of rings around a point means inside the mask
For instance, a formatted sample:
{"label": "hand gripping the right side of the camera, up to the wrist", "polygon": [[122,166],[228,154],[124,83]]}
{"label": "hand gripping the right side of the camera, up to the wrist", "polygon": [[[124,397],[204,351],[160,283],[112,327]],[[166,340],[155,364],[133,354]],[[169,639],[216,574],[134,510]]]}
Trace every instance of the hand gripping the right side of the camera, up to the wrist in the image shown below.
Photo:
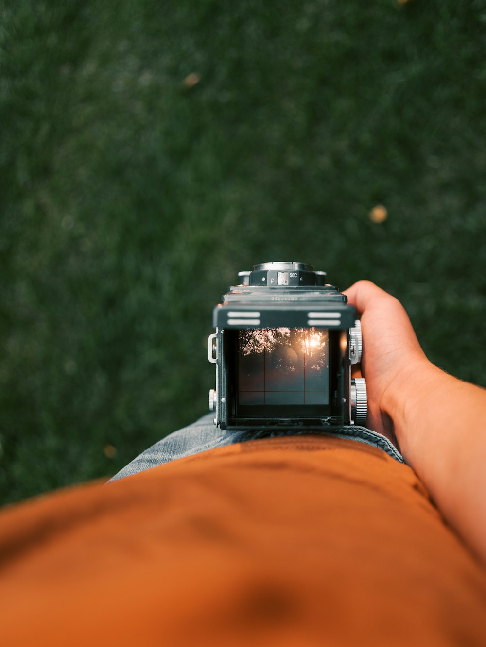
{"label": "hand gripping the right side of the camera, up to the wrist", "polygon": [[429,364],[402,304],[371,281],[344,291],[361,316],[362,375],[366,379],[370,429],[397,443],[393,420],[406,402],[400,385]]}

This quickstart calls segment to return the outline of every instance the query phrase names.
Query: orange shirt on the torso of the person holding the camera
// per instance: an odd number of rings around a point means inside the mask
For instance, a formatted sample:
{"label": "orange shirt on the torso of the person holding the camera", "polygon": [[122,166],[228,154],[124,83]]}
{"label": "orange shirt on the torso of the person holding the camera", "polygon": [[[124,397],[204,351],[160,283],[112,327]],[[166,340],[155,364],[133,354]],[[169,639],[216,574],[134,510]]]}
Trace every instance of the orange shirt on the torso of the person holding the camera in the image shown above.
{"label": "orange shirt on the torso of the person holding the camera", "polygon": [[6,508],[0,567],[8,647],[486,644],[485,571],[413,470],[334,437]]}

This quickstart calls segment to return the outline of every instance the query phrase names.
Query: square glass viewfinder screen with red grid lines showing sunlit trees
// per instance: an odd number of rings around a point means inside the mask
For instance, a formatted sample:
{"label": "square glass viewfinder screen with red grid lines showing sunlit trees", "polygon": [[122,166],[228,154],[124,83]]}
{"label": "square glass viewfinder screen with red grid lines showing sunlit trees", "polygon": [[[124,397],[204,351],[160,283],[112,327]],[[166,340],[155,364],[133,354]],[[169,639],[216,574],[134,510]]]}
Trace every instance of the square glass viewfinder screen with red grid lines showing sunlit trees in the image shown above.
{"label": "square glass viewfinder screen with red grid lines showing sunlit trees", "polygon": [[238,331],[238,402],[329,404],[328,345],[326,329]]}

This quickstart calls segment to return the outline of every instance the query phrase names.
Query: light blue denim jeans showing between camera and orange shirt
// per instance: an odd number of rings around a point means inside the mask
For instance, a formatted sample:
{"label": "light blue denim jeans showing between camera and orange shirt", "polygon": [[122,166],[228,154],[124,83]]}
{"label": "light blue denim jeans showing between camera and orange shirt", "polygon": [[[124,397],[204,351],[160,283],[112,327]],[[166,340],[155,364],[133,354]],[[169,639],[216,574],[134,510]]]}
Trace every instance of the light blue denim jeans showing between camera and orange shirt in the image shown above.
{"label": "light blue denim jeans showing between camera and orange shirt", "polygon": [[259,438],[272,438],[275,436],[293,436],[303,435],[307,433],[319,433],[321,435],[332,435],[339,438],[346,438],[377,447],[383,450],[389,456],[404,463],[404,459],[400,452],[390,443],[388,438],[380,433],[372,432],[365,427],[360,427],[356,424],[349,424],[341,427],[339,430],[333,432],[323,432],[321,430],[309,429],[286,429],[286,430],[255,430],[255,431],[231,431],[228,432],[224,429],[214,426],[214,413],[203,415],[198,421],[190,424],[178,432],[170,433],[170,435],[163,438],[158,443],[152,445],[142,452],[137,458],[128,463],[122,470],[115,474],[111,481],[116,481],[124,476],[130,476],[137,472],[143,472],[151,467],[156,467],[162,463],[174,461],[177,458],[199,454],[200,452],[207,452],[207,450],[215,449],[216,447],[224,447],[225,445],[244,443],[246,441],[253,441]]}

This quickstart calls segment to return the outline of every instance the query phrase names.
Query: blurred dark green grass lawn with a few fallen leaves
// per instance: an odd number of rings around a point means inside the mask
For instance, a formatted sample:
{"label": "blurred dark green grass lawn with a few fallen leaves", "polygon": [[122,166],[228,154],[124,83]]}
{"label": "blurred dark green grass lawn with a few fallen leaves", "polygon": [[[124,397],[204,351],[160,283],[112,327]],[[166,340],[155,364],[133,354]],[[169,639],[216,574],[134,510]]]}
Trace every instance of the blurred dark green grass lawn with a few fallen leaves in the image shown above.
{"label": "blurred dark green grass lawn with a few fallen leaves", "polygon": [[0,38],[3,503],[205,413],[262,261],[375,281],[486,385],[483,2],[8,0]]}

